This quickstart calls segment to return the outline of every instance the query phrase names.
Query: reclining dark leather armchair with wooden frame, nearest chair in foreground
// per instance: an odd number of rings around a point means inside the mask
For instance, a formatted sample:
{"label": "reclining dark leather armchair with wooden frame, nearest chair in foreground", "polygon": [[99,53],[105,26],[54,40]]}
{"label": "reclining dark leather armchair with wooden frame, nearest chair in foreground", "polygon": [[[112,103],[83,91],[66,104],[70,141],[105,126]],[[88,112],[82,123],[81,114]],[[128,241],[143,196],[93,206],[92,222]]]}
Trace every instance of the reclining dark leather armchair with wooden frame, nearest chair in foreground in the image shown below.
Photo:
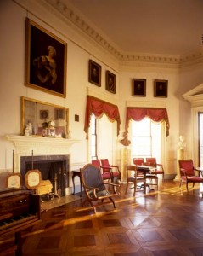
{"label": "reclining dark leather armchair with wooden frame, nearest chair in foreground", "polygon": [[[99,168],[92,164],[87,164],[80,169],[82,186],[86,195],[86,199],[82,202],[82,207],[86,203],[89,203],[93,207],[93,212],[96,213],[96,207],[103,206],[105,204],[112,203],[116,208],[113,197],[119,195],[116,190],[120,187],[119,184],[104,183]],[[107,186],[108,185],[108,186]],[[109,189],[112,187],[112,189]]]}

